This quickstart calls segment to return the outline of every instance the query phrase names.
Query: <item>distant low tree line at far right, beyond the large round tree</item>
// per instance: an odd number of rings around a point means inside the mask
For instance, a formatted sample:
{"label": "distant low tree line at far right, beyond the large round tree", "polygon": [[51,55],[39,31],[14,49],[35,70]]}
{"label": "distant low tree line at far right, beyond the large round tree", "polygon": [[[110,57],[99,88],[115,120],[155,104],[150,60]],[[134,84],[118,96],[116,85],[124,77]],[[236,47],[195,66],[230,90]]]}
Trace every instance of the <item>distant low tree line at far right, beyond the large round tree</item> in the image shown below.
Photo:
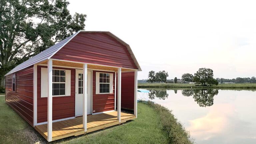
{"label": "distant low tree line at far right, beyond the large round tree", "polygon": [[219,83],[224,83],[224,82],[233,82],[233,83],[256,83],[256,78],[253,76],[251,78],[233,78],[233,79],[224,79],[224,78],[216,78],[216,80]]}

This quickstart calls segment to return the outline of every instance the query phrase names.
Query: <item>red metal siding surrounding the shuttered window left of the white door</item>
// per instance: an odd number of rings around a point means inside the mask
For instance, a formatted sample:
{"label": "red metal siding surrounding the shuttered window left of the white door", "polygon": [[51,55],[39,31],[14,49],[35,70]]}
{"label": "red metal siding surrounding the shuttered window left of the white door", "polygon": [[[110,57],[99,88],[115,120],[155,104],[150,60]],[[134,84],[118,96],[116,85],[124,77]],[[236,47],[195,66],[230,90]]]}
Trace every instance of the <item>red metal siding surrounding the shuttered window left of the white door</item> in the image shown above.
{"label": "red metal siding surrounding the shuttered window left of the white door", "polygon": [[[37,123],[47,121],[47,98],[41,98],[41,67],[37,66]],[[75,69],[59,68],[71,70],[71,95],[52,98],[52,120],[69,118],[75,116]]]}

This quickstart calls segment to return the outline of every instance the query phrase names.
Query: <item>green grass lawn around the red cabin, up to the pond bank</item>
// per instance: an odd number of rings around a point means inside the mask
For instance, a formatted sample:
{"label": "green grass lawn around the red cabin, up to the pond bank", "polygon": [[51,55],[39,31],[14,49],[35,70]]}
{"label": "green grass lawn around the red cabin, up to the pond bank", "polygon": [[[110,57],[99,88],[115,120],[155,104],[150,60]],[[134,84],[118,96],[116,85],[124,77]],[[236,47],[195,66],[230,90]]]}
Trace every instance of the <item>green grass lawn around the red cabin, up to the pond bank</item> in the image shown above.
{"label": "green grass lawn around the red cabin, up to the pond bank", "polygon": [[[167,134],[162,131],[157,111],[146,104],[138,103],[138,118],[123,125],[113,126],[86,135],[65,138],[52,143],[168,143]],[[23,118],[5,103],[0,96],[0,143],[46,143]]]}

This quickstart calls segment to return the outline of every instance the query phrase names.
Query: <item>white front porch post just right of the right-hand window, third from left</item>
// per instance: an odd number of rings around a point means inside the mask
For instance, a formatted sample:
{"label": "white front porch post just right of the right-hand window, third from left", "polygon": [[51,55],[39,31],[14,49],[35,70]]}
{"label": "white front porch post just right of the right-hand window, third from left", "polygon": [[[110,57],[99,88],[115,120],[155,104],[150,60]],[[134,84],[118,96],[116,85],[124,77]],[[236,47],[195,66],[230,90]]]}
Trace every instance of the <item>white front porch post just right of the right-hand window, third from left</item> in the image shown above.
{"label": "white front porch post just right of the right-hand window, third from left", "polygon": [[121,68],[118,68],[117,85],[117,119],[121,123]]}

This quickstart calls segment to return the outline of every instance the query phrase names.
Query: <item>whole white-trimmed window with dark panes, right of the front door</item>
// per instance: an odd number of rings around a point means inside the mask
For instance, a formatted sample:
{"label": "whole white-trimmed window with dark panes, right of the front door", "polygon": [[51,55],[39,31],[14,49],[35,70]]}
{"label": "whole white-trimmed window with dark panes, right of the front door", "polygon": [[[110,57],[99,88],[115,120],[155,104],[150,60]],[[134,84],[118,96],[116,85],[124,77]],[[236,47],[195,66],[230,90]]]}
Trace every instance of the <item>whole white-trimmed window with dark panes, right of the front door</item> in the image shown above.
{"label": "whole white-trimmed window with dark panes, right of the front door", "polygon": [[113,73],[96,72],[96,94],[113,93]]}

